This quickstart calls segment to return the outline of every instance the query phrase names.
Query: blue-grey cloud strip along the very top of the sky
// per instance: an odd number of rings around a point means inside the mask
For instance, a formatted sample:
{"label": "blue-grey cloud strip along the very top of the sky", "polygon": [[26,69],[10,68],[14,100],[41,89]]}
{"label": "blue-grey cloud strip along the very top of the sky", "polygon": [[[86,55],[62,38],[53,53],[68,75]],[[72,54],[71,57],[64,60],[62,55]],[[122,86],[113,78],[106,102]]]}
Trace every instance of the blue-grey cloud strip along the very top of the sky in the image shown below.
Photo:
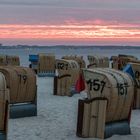
{"label": "blue-grey cloud strip along the very top of the sky", "polygon": [[81,9],[139,9],[139,0],[0,0],[0,5]]}

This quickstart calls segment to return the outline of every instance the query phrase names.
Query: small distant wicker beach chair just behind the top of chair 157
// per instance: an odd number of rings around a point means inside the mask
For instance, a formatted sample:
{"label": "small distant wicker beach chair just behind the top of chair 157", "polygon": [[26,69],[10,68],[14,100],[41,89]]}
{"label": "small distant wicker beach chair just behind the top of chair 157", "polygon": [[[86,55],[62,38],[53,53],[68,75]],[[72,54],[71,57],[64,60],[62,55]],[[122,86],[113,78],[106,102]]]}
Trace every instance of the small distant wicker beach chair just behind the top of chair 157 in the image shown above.
{"label": "small distant wicker beach chair just behind the top of chair 157", "polygon": [[97,55],[88,55],[87,56],[89,65],[87,68],[108,68],[109,67],[109,58],[105,56]]}

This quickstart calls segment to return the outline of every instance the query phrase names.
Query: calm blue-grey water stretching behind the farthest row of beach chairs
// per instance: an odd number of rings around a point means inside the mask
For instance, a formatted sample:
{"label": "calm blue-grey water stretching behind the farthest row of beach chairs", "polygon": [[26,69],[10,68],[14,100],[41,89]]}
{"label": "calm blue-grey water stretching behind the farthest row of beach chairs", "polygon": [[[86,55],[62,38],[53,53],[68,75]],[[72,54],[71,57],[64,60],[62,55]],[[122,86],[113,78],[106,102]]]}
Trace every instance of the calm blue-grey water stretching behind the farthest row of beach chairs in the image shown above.
{"label": "calm blue-grey water stretching behind the farthest row of beach chairs", "polygon": [[19,55],[21,65],[29,65],[29,54],[38,53],[54,53],[56,58],[61,58],[63,55],[82,55],[87,62],[87,55],[96,54],[111,57],[118,54],[134,55],[140,59],[140,49],[98,49],[98,48],[77,48],[77,49],[56,49],[56,48],[41,48],[41,49],[0,49],[0,54]]}

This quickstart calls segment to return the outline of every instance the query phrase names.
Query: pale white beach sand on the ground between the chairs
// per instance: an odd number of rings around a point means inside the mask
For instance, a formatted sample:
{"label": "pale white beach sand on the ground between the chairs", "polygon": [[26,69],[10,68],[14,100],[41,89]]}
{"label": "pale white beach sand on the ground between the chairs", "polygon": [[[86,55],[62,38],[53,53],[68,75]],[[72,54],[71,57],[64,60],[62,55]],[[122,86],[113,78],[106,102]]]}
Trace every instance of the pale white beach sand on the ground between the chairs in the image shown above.
{"label": "pale white beach sand on the ground between the chairs", "polygon": [[[53,95],[53,78],[37,78],[38,116],[10,119],[8,140],[96,140],[76,136],[78,99]],[[132,111],[132,135],[114,135],[107,140],[140,140],[140,110]]]}

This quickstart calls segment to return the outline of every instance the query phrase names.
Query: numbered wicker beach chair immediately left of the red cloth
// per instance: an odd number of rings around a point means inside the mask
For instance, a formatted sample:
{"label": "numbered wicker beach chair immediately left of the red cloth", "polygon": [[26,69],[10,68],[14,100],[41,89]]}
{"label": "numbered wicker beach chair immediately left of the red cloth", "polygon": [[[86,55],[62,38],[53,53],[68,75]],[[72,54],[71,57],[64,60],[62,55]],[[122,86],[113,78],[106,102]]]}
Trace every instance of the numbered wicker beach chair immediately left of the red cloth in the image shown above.
{"label": "numbered wicker beach chair immediately left of the red cloth", "polygon": [[77,93],[75,84],[80,68],[76,61],[56,59],[57,76],[54,78],[54,95],[72,96]]}

